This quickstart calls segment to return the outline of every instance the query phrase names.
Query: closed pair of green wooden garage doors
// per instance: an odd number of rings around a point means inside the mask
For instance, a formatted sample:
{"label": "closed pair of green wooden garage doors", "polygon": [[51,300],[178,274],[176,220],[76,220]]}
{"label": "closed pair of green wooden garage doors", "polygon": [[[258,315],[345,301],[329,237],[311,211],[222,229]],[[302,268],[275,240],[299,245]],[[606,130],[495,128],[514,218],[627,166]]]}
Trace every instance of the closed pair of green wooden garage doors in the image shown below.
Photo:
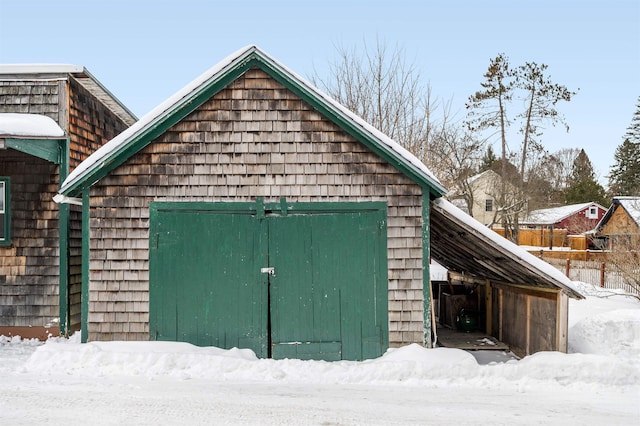
{"label": "closed pair of green wooden garage doors", "polygon": [[388,346],[384,203],[153,203],[152,340],[360,360]]}

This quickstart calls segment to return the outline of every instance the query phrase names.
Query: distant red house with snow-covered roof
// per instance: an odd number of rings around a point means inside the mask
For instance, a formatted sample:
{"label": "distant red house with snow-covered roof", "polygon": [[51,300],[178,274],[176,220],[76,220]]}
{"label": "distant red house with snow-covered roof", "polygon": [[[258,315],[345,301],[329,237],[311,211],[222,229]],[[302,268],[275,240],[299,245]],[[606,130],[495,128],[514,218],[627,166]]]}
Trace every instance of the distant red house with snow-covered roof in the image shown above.
{"label": "distant red house with snow-covered roof", "polygon": [[571,204],[534,210],[520,224],[528,229],[565,229],[569,235],[578,235],[595,228],[606,212],[594,202]]}

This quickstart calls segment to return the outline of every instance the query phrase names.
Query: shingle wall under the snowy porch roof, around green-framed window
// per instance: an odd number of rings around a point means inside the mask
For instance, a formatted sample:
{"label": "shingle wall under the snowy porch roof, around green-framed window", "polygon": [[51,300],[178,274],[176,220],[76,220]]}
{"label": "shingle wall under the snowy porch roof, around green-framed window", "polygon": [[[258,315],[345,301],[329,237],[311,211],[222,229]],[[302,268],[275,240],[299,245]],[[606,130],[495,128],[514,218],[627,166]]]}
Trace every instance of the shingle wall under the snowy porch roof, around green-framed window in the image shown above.
{"label": "shingle wall under the snowy porch roof, around green-framed window", "polygon": [[[0,247],[0,327],[44,327],[59,317],[57,166],[6,150],[11,247]],[[57,327],[54,322],[53,325]]]}

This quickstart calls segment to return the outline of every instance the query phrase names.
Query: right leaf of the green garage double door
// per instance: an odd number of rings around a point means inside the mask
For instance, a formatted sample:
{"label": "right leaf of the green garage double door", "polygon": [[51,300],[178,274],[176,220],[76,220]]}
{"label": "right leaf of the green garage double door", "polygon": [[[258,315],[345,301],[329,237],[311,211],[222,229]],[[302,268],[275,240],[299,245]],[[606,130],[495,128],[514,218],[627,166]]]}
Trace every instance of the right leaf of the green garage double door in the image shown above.
{"label": "right leaf of the green garage double door", "polygon": [[385,215],[269,217],[273,358],[360,360],[387,348]]}

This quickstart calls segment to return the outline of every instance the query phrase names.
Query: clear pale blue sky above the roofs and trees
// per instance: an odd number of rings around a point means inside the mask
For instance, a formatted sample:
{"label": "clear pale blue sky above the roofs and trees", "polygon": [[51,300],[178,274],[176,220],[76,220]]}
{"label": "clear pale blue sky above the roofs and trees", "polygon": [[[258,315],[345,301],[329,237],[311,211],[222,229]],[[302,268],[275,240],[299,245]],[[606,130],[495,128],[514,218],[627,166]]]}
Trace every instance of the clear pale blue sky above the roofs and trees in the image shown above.
{"label": "clear pale blue sky above the roofs and trees", "polygon": [[498,54],[548,65],[578,93],[542,144],[584,148],[603,183],[640,99],[637,0],[0,0],[0,63],[82,65],[138,117],[247,45],[311,79],[376,40],[458,119]]}

